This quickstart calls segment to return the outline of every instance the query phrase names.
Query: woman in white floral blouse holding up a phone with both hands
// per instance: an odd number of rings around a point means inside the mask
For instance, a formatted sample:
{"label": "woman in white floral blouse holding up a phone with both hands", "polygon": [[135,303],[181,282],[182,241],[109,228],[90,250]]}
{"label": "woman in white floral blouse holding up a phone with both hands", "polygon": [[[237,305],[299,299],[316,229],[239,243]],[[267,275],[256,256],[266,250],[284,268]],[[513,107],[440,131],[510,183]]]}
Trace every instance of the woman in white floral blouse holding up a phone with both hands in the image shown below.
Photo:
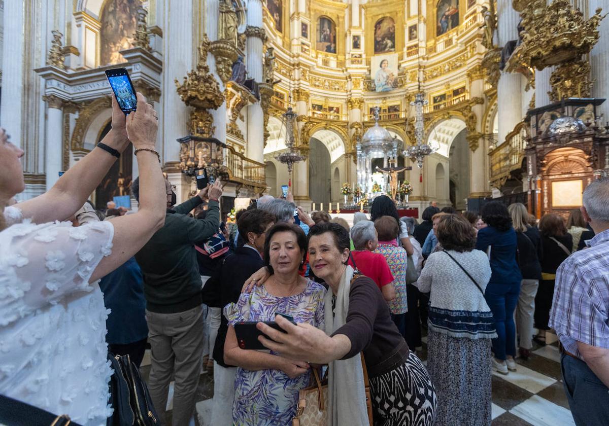
{"label": "woman in white floral blouse holding up a phone with both hands", "polygon": [[[106,424],[111,369],[97,280],[163,225],[157,120],[141,94],[127,117],[113,97],[105,148],[94,148],[46,194],[12,207],[5,206],[24,189],[23,150],[0,129],[0,394],[79,424]],[[116,161],[112,152],[129,141],[138,159],[139,211],[79,228],[61,222],[82,207]]]}

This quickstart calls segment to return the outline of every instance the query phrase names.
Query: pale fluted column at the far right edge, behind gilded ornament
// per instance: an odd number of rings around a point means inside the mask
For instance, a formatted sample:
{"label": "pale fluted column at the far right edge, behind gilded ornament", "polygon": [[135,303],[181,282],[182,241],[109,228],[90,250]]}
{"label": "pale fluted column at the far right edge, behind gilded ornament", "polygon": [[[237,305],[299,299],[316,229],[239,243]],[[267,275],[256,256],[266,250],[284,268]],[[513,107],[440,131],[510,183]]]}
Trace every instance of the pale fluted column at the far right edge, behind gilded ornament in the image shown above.
{"label": "pale fluted column at the far right edge, behind gilded ornament", "polygon": [[[603,13],[609,11],[607,0],[588,0],[588,15],[592,15],[597,7],[603,8]],[[607,99],[609,97],[609,16],[600,21],[600,39],[590,52],[592,78],[596,80],[592,86],[592,97]],[[609,100],[600,105],[597,114],[603,114],[602,124],[609,121]]]}

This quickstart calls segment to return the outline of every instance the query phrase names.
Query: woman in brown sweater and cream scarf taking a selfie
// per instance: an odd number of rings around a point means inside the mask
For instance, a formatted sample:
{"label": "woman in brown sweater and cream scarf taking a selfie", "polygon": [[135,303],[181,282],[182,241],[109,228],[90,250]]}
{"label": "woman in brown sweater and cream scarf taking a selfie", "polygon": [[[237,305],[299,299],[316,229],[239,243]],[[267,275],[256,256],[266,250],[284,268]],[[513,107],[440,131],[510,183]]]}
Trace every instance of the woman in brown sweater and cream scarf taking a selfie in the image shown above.
{"label": "woman in brown sweater and cream scarf taking a selfie", "polygon": [[[376,284],[365,276],[351,279],[354,270],[347,265],[349,243],[347,231],[336,223],[315,225],[309,231],[311,268],[332,290],[326,298],[326,332],[308,324],[294,326],[277,316],[277,323],[287,333],[259,323],[258,328],[272,338],[260,340],[284,357],[329,364],[329,407],[332,401],[340,405],[343,400],[335,393],[351,392],[342,386],[332,389],[333,368],[339,372],[343,366],[340,363],[350,360],[357,365],[359,353],[363,352],[375,424],[431,426],[437,399],[429,374],[393,324]],[[328,319],[333,322],[331,328]],[[337,384],[344,375],[348,374],[337,375]],[[333,421],[329,416],[328,424],[338,424],[336,417]],[[340,424],[346,424],[343,417]]]}

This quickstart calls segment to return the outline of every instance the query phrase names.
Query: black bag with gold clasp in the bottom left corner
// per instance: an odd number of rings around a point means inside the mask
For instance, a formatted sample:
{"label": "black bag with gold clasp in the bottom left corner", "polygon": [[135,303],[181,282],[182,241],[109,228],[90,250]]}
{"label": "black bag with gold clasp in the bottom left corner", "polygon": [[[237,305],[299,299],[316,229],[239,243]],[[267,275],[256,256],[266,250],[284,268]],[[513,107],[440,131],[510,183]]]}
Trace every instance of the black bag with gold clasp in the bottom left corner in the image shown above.
{"label": "black bag with gold clasp in the bottom left corner", "polygon": [[0,424],[4,426],[80,426],[63,414],[57,416],[28,403],[0,395]]}

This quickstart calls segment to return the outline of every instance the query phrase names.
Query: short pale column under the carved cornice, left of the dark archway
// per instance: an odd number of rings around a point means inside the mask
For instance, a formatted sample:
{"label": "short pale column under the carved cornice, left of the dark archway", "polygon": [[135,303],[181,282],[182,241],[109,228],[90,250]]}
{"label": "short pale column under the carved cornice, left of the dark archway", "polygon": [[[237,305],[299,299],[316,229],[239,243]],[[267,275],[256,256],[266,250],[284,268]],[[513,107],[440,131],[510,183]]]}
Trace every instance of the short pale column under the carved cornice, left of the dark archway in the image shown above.
{"label": "short pale column under the carved cornice, left of the dark archway", "polygon": [[44,96],[48,109],[46,110],[46,156],[44,170],[46,171],[46,190],[57,182],[62,170],[63,152],[57,147],[62,146],[63,140],[63,99],[57,96]]}

